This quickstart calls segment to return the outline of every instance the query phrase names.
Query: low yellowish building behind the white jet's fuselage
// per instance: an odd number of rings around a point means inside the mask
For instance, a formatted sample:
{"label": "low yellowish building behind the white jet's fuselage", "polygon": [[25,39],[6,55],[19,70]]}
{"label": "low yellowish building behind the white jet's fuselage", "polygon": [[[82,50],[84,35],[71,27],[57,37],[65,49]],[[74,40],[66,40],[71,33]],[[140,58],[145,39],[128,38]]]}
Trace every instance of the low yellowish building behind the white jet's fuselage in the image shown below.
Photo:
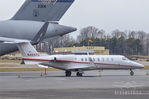
{"label": "low yellowish building behind the white jet's fuselage", "polygon": [[87,54],[92,55],[109,55],[109,50],[105,47],[97,46],[83,46],[83,47],[64,47],[64,48],[54,48],[53,54]]}

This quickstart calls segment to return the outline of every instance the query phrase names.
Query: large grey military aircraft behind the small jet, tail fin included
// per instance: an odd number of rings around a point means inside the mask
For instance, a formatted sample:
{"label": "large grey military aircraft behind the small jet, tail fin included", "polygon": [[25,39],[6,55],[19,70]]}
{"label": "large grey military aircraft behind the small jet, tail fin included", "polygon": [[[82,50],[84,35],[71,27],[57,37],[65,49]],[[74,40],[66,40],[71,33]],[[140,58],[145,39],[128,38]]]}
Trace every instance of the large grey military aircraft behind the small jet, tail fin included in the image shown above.
{"label": "large grey military aircraft behind the small jet, tail fin included", "polygon": [[[76,28],[58,24],[73,2],[74,0],[26,0],[10,20],[0,21],[0,37],[32,40],[46,22],[49,24],[44,39],[76,31]],[[0,43],[0,56],[16,50],[16,45]]]}

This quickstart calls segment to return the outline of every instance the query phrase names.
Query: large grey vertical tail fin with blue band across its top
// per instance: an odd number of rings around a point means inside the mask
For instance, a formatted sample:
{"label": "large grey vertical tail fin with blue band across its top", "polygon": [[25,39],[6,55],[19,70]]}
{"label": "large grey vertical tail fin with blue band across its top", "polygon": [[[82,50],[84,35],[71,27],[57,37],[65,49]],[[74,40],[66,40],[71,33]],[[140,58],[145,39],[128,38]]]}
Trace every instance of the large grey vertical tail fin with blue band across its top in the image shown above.
{"label": "large grey vertical tail fin with blue band across its top", "polygon": [[74,0],[26,0],[12,20],[59,21]]}

